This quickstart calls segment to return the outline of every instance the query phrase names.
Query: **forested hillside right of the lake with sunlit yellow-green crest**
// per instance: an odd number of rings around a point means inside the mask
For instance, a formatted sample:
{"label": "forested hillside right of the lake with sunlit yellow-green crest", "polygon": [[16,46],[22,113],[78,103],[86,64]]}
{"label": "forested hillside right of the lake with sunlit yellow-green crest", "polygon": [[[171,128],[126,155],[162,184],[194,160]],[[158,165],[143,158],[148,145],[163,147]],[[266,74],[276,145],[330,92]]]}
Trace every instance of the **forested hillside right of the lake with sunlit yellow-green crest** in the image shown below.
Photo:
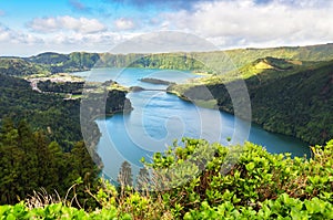
{"label": "forested hillside right of the lake with sunlit yellow-green crest", "polygon": [[229,94],[238,94],[238,86],[233,84],[242,77],[248,86],[253,122],[270,132],[294,136],[310,144],[324,144],[333,138],[332,67],[333,61],[265,57],[239,72],[173,85],[168,91],[198,104],[213,103],[214,99],[220,109],[234,113]]}

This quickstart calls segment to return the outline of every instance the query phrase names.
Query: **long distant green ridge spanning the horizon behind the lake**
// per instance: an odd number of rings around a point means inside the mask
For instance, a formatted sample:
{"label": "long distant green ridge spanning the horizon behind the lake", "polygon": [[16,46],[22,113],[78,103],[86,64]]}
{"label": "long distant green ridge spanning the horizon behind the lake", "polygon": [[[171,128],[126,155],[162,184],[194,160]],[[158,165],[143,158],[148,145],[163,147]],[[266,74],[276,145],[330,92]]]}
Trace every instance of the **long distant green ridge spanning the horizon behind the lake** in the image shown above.
{"label": "long distant green ridge spanning the horizon behind the lake", "polygon": [[112,54],[73,52],[41,53],[30,57],[0,57],[0,73],[31,75],[88,71],[92,67],[148,67],[171,69],[209,73],[226,73],[263,57],[297,61],[333,60],[333,43],[310,46],[271,49],[238,49],[212,52],[178,52],[158,54]]}

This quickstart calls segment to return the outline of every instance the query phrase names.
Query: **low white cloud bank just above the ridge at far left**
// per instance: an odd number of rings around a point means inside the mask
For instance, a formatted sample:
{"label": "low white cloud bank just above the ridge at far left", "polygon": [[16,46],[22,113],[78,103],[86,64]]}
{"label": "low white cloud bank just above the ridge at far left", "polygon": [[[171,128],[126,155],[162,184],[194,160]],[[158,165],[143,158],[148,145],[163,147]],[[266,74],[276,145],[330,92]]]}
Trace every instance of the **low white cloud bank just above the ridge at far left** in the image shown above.
{"label": "low white cloud bank just above the ridge at far left", "polygon": [[29,56],[46,51],[70,53],[73,51],[107,52],[123,36],[115,32],[79,33],[56,32],[52,34],[29,33],[13,30],[0,23],[0,56]]}

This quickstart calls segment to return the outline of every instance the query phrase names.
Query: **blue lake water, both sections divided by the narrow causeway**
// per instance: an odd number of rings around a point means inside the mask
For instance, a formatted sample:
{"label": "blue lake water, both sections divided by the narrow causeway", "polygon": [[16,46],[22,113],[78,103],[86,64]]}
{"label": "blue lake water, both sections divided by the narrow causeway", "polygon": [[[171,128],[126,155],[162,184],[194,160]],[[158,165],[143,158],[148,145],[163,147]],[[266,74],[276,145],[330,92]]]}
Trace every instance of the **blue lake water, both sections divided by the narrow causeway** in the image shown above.
{"label": "blue lake water, both sections divided by the narrow causeway", "polygon": [[[97,69],[75,73],[87,81],[114,80],[124,86],[167,88],[165,85],[143,83],[142,77],[153,77],[175,83],[198,77],[190,72],[147,69]],[[293,156],[310,156],[307,144],[284,135],[265,132],[258,125],[243,123],[233,115],[216,109],[198,107],[163,91],[129,93],[133,111],[115,114],[107,119],[97,119],[102,137],[98,154],[103,160],[105,176],[117,179],[124,160],[132,164],[134,172],[142,165],[142,157],[163,151],[174,139],[182,137],[204,138],[228,145],[228,137],[235,143],[250,140],[262,145],[270,153],[291,153]],[[249,126],[250,125],[250,126]]]}

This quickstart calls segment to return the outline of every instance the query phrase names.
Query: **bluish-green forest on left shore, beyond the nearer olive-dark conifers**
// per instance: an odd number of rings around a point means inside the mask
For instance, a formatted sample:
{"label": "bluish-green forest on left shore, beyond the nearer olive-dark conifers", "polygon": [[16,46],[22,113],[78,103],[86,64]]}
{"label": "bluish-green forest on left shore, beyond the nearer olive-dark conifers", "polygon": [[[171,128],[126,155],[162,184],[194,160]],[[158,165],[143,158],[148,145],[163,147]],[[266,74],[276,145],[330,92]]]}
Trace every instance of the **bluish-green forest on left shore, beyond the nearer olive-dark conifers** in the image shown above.
{"label": "bluish-green forest on left shore, beyond the nearer olive-dark conifers", "polygon": [[[59,92],[59,94],[44,94],[32,91],[29,82],[24,80],[0,74],[0,118],[13,118],[14,123],[26,119],[34,130],[47,130],[48,138],[58,142],[63,150],[68,151],[77,142],[83,139],[80,126],[81,98],[64,99],[62,92],[82,92],[82,83],[46,83],[42,84],[43,90],[49,88],[48,92]],[[93,87],[97,90],[100,86],[101,84],[97,84]],[[110,90],[107,94],[105,114],[122,111],[125,103],[127,107],[130,106],[124,91]],[[99,94],[97,97],[103,98]],[[95,111],[93,118],[103,114],[101,108],[92,106]],[[91,118],[83,119],[87,119],[87,126],[92,134],[99,137],[95,123],[90,121]]]}

